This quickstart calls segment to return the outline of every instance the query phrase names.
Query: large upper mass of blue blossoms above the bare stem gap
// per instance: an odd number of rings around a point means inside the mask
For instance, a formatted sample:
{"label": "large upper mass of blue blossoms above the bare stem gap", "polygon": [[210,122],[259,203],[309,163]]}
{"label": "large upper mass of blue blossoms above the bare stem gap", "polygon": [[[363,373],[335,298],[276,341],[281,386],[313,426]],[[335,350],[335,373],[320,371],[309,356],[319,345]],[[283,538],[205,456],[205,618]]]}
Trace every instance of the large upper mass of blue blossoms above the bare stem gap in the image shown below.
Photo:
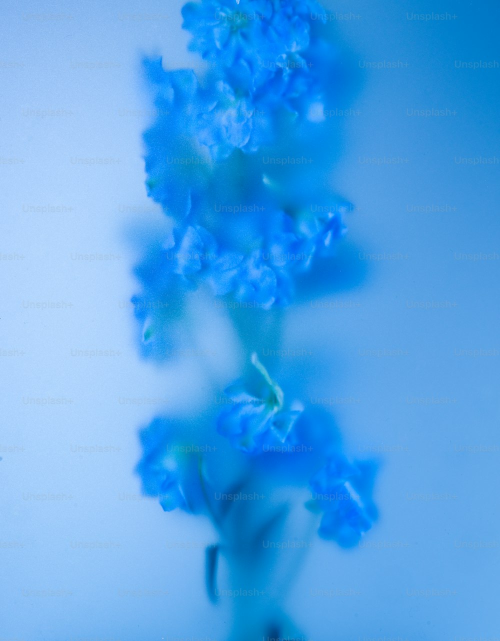
{"label": "large upper mass of blue blossoms above the bare stem gap", "polygon": [[[215,296],[285,306],[297,274],[335,251],[349,210],[329,187],[335,51],[313,12],[310,0],[189,3],[184,26],[208,70],[145,61],[156,106],[147,192],[172,221],[164,249],[175,256],[158,255],[161,286],[143,281],[145,303],[207,284]],[[144,323],[158,326],[154,316]]]}

